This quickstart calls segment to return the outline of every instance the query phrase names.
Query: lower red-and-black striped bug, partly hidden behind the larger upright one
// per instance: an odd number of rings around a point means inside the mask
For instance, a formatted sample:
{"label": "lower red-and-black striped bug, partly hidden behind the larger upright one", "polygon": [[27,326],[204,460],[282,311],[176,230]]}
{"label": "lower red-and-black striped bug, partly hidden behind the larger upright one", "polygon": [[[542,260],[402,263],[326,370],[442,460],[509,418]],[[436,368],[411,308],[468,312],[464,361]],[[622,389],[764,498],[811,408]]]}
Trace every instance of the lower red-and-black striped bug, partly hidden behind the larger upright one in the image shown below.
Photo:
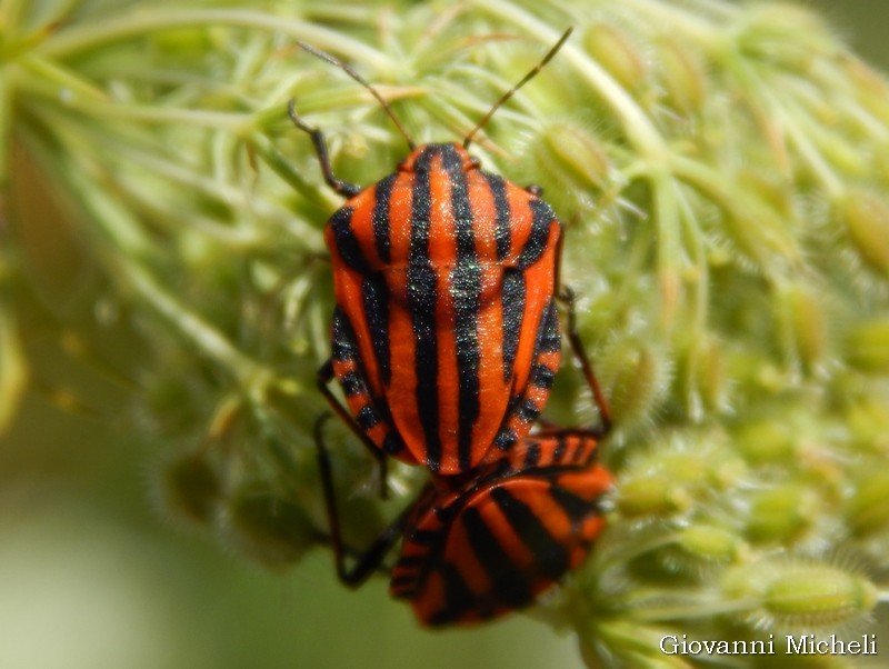
{"label": "lower red-and-black striped bug, partly hidden behind the larger upright one", "polygon": [[548,429],[470,478],[433,477],[347,569],[330,462],[316,439],[340,580],[360,586],[401,540],[389,591],[430,627],[529,606],[580,566],[605,527],[600,499],[612,478],[597,462],[598,432]]}

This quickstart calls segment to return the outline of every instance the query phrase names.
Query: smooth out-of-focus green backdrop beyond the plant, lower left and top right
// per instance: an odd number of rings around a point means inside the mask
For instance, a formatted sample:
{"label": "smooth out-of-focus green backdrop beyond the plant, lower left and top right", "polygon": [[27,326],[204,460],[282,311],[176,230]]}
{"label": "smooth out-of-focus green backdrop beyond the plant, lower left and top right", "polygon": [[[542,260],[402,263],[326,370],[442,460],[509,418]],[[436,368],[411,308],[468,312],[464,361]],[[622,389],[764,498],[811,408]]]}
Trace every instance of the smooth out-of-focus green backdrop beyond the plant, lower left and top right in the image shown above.
{"label": "smooth out-of-focus green backdrop beyond the plant, lower left and top right", "polygon": [[[889,3],[807,4],[889,69]],[[29,395],[0,442],[0,668],[582,667],[570,638],[527,616],[420,630],[383,579],[341,588],[327,552],[286,573],[226,555],[156,511],[158,457],[113,419]]]}

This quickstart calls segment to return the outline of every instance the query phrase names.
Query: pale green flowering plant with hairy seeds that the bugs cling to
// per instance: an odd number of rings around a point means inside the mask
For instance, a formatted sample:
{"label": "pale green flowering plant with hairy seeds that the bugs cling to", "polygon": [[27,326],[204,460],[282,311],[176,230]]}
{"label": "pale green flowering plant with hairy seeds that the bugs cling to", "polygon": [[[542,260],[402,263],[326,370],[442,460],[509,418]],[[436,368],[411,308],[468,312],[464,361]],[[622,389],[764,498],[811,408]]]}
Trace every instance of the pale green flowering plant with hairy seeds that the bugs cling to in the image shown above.
{"label": "pale green flowering plant with hairy seeds that the bugs cling to", "polygon": [[[716,0],[446,6],[6,0],[0,429],[28,387],[169,445],[169,512],[289,565],[322,541],[311,426],[338,206],[288,98],[370,183],[462,137],[568,226],[565,273],[611,399],[592,560],[537,613],[590,666],[686,667],[665,635],[865,633],[889,539],[889,91],[812,13]],[[49,343],[48,343],[49,342]],[[47,351],[52,355],[48,356]],[[53,367],[63,353],[77,373]],[[83,370],[104,392],[77,391]],[[565,370],[550,415],[592,420]],[[387,512],[342,430],[347,531]],[[396,468],[404,503],[422,473]],[[806,657],[716,657],[810,666]],[[855,658],[836,657],[836,666]],[[797,663],[793,663],[797,662]]]}

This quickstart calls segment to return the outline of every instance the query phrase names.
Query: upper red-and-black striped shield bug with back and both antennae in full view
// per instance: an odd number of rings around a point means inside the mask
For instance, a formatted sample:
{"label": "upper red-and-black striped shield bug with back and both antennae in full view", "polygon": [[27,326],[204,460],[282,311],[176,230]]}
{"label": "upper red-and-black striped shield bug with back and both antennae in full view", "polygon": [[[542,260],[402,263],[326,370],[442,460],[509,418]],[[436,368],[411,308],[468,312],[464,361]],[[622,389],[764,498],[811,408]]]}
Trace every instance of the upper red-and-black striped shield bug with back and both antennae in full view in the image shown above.
{"label": "upper red-and-black striped shield bug with back and both antennae in full view", "polygon": [[[333,266],[331,358],[318,373],[331,408],[378,458],[460,475],[528,433],[560,361],[555,304],[561,224],[535,187],[485,171],[467,148],[552,58],[507,91],[462,144],[414,146],[379,92],[410,154],[369,188],[333,174],[323,134],[289,104],[314,146],[326,182],[348,201],[324,241]],[[337,379],[346,398],[330,390]],[[384,483],[383,483],[384,486]]]}

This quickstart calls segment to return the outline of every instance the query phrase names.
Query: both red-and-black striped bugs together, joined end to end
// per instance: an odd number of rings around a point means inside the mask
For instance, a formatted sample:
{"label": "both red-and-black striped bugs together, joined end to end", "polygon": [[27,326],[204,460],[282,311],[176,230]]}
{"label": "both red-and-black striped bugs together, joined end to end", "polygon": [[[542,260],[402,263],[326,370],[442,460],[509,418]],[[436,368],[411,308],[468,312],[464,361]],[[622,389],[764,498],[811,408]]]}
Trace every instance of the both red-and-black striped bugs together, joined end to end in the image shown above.
{"label": "both red-and-black striped bugs together, joined end to end", "polygon": [[[369,188],[334,177],[323,134],[291,100],[326,182],[348,198],[324,228],[333,267],[332,355],[318,372],[333,411],[379,460],[424,466],[431,479],[347,567],[323,417],[319,470],[340,579],[360,585],[401,540],[391,593],[426,625],[470,623],[533,601],[588,553],[603,527],[611,477],[597,462],[609,413],[558,282],[561,224],[540,189],[480,169],[467,148],[555,56],[569,29],[481,119],[462,146],[416,147],[379,92],[307,44],[380,102],[410,154]],[[599,429],[531,432],[560,352],[557,300],[592,390]],[[341,403],[330,389],[339,381]]]}

